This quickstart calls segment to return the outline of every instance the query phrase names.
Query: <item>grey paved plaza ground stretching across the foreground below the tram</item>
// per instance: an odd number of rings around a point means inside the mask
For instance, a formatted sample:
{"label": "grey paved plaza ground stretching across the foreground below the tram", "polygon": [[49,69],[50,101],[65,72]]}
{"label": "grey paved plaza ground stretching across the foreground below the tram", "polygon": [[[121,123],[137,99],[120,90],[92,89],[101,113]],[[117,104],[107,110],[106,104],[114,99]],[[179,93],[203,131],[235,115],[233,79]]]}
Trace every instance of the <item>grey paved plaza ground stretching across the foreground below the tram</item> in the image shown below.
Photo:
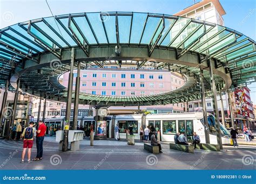
{"label": "grey paved plaza ground stretching across the foreground below the tram", "polygon": [[[127,145],[125,140],[90,140],[80,142],[80,150],[58,151],[55,137],[45,137],[44,154],[40,161],[22,164],[22,141],[0,139],[0,169],[255,169],[256,146],[239,148],[224,146],[220,152],[195,150],[193,154],[171,150],[162,142],[163,152],[151,154],[143,143]],[[10,158],[11,156],[11,158]],[[31,158],[36,156],[36,143]],[[248,159],[245,160],[245,156]]]}

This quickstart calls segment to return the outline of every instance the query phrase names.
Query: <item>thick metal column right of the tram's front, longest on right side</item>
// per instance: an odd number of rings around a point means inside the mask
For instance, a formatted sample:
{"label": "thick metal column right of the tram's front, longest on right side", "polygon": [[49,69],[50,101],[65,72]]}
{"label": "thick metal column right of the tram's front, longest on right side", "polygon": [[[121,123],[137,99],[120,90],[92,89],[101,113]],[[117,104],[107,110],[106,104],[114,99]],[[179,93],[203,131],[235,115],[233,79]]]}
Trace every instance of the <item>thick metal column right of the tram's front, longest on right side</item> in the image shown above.
{"label": "thick metal column right of the tram's front, longest on right side", "polygon": [[213,112],[214,112],[214,118],[215,118],[217,144],[220,145],[220,150],[223,150],[221,132],[220,132],[220,121],[219,121],[219,110],[218,110],[218,103],[217,103],[216,86],[215,86],[215,81],[213,77],[212,65],[213,65],[212,61],[210,60],[209,67],[210,67],[210,75],[211,75],[212,102],[213,102]]}

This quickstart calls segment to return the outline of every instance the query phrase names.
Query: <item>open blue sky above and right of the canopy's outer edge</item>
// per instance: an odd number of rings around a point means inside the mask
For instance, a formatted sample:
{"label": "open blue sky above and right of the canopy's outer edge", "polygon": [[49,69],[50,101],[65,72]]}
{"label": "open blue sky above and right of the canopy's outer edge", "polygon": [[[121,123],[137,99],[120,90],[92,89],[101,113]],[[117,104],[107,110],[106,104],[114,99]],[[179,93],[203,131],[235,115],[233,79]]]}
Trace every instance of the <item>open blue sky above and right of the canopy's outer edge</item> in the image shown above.
{"label": "open blue sky above and right of the canopy's outer edge", "polygon": [[[199,2],[196,0],[196,2]],[[99,11],[133,11],[173,15],[193,0],[48,0],[53,15]],[[256,40],[256,1],[220,0],[225,26]],[[0,29],[26,20],[51,16],[45,0],[0,0]],[[248,86],[256,104],[256,83]]]}

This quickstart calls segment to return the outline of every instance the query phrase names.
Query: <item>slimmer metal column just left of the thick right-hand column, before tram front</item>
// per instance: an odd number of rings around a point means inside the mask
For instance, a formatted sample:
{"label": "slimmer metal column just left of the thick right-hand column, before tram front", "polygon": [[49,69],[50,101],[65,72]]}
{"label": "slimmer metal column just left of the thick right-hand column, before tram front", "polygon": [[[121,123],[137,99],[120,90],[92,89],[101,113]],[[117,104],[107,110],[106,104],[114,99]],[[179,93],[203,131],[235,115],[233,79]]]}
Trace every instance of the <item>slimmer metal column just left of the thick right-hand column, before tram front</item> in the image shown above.
{"label": "slimmer metal column just left of the thick right-hand column, before tram front", "polygon": [[201,102],[202,102],[203,119],[204,119],[205,143],[210,144],[209,125],[208,125],[208,120],[207,120],[207,109],[206,109],[206,100],[205,100],[205,85],[204,85],[204,78],[203,78],[203,69],[200,69],[200,84],[201,84]]}

